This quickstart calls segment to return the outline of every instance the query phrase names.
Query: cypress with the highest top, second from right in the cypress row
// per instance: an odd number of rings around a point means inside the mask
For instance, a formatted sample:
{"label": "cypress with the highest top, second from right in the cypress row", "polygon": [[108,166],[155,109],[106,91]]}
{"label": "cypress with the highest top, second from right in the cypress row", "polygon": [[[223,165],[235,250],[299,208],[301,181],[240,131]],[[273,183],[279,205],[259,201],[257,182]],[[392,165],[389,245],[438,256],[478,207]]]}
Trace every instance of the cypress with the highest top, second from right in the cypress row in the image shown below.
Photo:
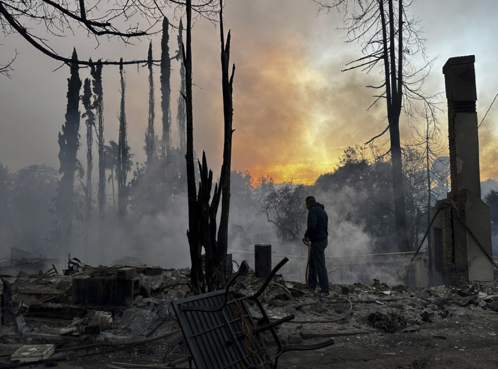
{"label": "cypress with the highest top, second from right in the cypress row", "polygon": [[[180,20],[181,24],[181,20]],[[171,59],[169,58],[169,21],[164,17],[162,20],[161,38],[161,111],[162,111],[162,145],[161,155],[168,162],[171,162]]]}

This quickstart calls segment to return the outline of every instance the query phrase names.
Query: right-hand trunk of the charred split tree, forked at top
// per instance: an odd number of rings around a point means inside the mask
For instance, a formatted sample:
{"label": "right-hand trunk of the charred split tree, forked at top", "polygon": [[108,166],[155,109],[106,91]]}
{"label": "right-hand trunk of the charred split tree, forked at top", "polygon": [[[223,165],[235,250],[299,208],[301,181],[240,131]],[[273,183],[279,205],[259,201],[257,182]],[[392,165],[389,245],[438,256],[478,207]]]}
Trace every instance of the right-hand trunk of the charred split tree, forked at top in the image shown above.
{"label": "right-hand trunk of the charred split tree, forked at top", "polygon": [[225,121],[225,137],[223,146],[223,165],[221,168],[220,187],[222,191],[220,228],[218,229],[217,247],[217,274],[219,278],[219,288],[226,284],[225,271],[227,268],[228,250],[228,220],[230,210],[230,173],[232,166],[232,129],[233,121],[233,100],[232,90],[235,73],[235,64],[232,67],[232,75],[229,78],[230,68],[230,30],[225,44],[223,32],[223,13],[220,1],[220,38],[221,38],[221,69],[223,87],[223,113]]}

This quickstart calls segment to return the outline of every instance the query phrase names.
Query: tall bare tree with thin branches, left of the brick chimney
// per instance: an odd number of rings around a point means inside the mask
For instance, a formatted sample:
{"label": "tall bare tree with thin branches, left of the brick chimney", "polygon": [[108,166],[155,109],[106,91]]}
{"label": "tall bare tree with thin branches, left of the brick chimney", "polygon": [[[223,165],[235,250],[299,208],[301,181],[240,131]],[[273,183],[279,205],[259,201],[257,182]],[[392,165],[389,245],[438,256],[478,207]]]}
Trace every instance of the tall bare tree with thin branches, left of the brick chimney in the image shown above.
{"label": "tall bare tree with thin branches, left of the brick chimney", "polygon": [[[424,55],[424,44],[420,38],[418,22],[413,17],[408,17],[406,12],[406,7],[411,2],[404,5],[403,0],[398,0],[396,7],[394,6],[395,0],[313,1],[318,3],[320,10],[338,8],[348,14],[345,18],[348,42],[360,42],[365,56],[350,62],[345,70],[362,68],[368,73],[377,65],[381,67],[380,84],[369,86],[382,91],[376,94],[375,102],[371,107],[380,99],[385,99],[388,125],[380,135],[373,139],[389,132],[397,244],[399,251],[409,251],[399,117],[402,109],[409,112],[413,99],[422,100],[425,103],[430,103],[431,100],[431,97],[423,96],[421,90],[426,75],[424,73],[428,73],[431,62],[426,63],[421,69],[414,69],[407,59],[408,55],[414,55],[418,51]],[[356,11],[357,9],[359,11]]]}

